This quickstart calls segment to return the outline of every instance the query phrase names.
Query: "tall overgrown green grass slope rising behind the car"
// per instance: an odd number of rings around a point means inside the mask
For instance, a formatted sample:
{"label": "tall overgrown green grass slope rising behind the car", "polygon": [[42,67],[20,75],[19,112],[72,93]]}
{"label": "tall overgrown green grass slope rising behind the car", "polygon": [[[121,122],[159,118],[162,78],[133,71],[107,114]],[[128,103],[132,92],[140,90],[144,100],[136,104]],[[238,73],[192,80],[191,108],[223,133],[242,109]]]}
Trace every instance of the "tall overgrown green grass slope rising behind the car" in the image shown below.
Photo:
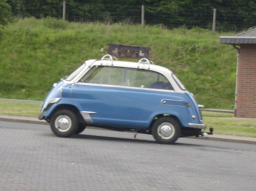
{"label": "tall overgrown green grass slope rising behind the car", "polygon": [[0,38],[0,97],[43,100],[54,82],[85,60],[100,59],[96,51],[105,55],[109,43],[123,43],[151,47],[151,58],[187,64],[156,63],[173,70],[199,104],[234,109],[237,52],[221,45],[220,35],[234,33],[50,18],[18,20]]}

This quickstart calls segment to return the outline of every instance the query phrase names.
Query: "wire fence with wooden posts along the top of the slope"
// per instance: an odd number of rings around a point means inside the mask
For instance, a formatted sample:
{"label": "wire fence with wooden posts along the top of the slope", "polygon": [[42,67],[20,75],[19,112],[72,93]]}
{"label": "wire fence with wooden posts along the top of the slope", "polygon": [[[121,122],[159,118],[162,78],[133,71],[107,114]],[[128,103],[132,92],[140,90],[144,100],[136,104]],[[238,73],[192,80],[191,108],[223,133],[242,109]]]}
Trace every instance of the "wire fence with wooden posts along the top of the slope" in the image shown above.
{"label": "wire fence with wooden posts along the top of the slope", "polygon": [[[125,24],[164,25],[177,27],[201,27],[221,32],[239,32],[256,25],[256,12],[224,10],[168,9],[151,6],[118,6],[78,2],[44,2],[25,0],[21,7],[12,6],[14,16],[55,17],[70,22],[104,22]],[[215,14],[214,14],[215,13]]]}

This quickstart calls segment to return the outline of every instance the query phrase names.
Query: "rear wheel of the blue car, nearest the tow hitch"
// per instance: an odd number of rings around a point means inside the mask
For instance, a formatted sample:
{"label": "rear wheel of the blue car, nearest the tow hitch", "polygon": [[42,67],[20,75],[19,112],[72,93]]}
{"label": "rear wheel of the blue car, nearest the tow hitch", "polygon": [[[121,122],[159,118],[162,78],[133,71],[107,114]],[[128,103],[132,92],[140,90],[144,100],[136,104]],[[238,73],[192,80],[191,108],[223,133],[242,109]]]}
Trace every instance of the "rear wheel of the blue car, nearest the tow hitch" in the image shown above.
{"label": "rear wheel of the blue car, nearest the tow hitch", "polygon": [[175,143],[181,133],[179,123],[171,117],[162,117],[156,120],[152,126],[154,140],[161,144]]}

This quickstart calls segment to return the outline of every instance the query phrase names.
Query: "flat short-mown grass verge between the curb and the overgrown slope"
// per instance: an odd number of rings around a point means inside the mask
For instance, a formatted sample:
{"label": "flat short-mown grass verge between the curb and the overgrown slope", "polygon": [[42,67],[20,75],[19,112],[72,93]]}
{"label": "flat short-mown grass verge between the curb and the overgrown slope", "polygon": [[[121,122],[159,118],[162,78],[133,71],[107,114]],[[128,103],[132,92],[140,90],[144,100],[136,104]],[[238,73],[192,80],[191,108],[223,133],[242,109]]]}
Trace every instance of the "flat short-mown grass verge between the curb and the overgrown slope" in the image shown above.
{"label": "flat short-mown grass verge between the curb and the overgrown slope", "polygon": [[[0,114],[38,117],[39,103],[0,100]],[[256,120],[232,118],[232,113],[202,112],[204,123],[213,127],[214,133],[256,137]]]}

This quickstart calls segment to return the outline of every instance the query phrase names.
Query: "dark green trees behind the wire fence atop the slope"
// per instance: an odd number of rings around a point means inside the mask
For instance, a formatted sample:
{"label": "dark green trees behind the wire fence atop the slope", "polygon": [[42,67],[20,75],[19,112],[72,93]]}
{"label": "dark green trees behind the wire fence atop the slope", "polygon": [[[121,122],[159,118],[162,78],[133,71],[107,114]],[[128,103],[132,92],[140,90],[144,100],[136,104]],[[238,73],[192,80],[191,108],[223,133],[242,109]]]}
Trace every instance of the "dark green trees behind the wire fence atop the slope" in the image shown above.
{"label": "dark green trees behind the wire fence atop the slope", "polygon": [[[17,18],[55,17],[62,19],[63,0],[0,0],[11,6]],[[73,22],[123,22],[140,24],[141,5],[145,5],[145,22],[148,25],[211,28],[212,9],[217,9],[217,28],[222,31],[240,31],[253,27],[256,19],[255,0],[66,0],[65,19]],[[2,9],[2,7],[1,7]],[[9,8],[4,8],[5,11]],[[0,10],[1,11],[1,10]],[[4,25],[0,12],[0,25]],[[155,19],[157,18],[157,19]],[[1,24],[3,23],[3,24]],[[237,23],[240,23],[237,26]]]}

